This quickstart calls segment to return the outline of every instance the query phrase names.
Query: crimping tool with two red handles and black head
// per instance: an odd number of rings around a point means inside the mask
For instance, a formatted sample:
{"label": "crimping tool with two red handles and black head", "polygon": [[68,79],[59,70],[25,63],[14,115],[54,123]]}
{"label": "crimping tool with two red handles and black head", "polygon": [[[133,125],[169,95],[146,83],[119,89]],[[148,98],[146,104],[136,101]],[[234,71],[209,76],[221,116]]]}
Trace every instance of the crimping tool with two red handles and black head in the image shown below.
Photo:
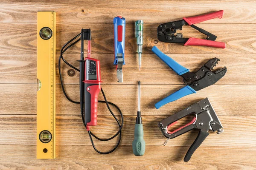
{"label": "crimping tool with two red handles and black head", "polygon": [[[196,23],[201,23],[203,21],[211,20],[213,18],[222,18],[223,10],[215,11],[209,14],[194,16],[194,17],[184,17],[183,20],[174,21],[170,23],[164,23],[158,26],[157,28],[157,38],[163,42],[176,42],[176,43],[184,43],[184,45],[199,45],[199,46],[208,46],[215,48],[226,48],[226,44],[224,42],[215,41],[217,36],[205,31],[202,28],[195,26]],[[176,33],[177,30],[182,30],[182,26],[189,25],[192,28],[195,28],[199,32],[207,35],[206,40],[198,39],[198,38],[183,38],[181,33]]]}

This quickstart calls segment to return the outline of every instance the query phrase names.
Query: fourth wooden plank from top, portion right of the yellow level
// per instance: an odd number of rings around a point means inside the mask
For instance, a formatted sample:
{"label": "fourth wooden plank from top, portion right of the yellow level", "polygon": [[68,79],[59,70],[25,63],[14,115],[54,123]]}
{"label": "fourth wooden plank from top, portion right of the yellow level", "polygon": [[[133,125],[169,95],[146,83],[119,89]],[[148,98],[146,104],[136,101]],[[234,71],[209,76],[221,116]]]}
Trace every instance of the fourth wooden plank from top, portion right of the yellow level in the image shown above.
{"label": "fourth wooden plank from top, portion right of the yellow level", "polygon": [[[72,99],[79,99],[79,85],[65,85],[67,94]],[[108,101],[118,105],[125,115],[137,113],[137,85],[102,85]],[[211,101],[218,115],[225,116],[255,116],[256,92],[255,85],[212,85],[198,91],[197,94],[185,96],[177,101],[168,103],[160,109],[155,109],[154,104],[169,96],[183,86],[180,85],[142,85],[141,110],[145,115],[169,115],[176,113],[195,102],[206,97]],[[59,89],[59,88],[58,88]],[[60,89],[59,89],[60,90]],[[59,93],[60,92],[60,93]],[[77,104],[69,102],[62,91],[57,91],[57,114],[80,114]],[[223,94],[222,94],[223,93]],[[223,96],[224,95],[224,96]],[[125,99],[125,100],[124,100]],[[99,94],[99,100],[103,100]],[[241,109],[243,108],[243,109]],[[108,113],[105,104],[99,104],[99,114]]]}

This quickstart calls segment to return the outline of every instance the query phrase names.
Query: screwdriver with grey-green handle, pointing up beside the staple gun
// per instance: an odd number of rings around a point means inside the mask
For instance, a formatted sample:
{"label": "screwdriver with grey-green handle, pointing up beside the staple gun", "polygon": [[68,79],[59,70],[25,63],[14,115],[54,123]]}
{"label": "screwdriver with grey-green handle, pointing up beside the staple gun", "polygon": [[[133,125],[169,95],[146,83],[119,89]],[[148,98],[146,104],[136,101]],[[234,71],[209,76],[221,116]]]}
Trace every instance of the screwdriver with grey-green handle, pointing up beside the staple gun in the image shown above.
{"label": "screwdriver with grey-green handle, pointing up beside the staple gun", "polygon": [[132,149],[134,155],[143,156],[145,153],[145,141],[143,139],[143,125],[140,114],[140,81],[138,82],[138,111],[136,117],[136,124],[134,130],[134,141],[132,142]]}

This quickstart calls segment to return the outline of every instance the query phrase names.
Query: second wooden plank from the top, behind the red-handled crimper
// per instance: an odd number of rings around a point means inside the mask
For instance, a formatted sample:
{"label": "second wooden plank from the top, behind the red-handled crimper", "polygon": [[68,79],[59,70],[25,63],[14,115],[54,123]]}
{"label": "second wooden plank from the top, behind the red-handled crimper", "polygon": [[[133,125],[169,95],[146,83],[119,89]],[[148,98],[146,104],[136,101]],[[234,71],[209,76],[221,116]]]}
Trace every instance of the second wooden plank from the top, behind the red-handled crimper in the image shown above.
{"label": "second wooden plank from the top, behind the red-handled crimper", "polygon": [[[157,40],[156,29],[159,24],[144,24],[143,54],[152,53],[151,48],[156,45],[166,54],[255,54],[256,28],[254,24],[197,24],[218,36],[217,41],[225,42],[227,48],[211,48],[202,46],[183,46],[180,43],[165,43]],[[17,29],[17,27],[19,29]],[[75,37],[81,28],[92,29],[92,53],[113,54],[113,24],[84,24],[84,23],[58,23],[56,33],[57,53],[62,45]],[[230,28],[230,29],[229,29]],[[244,29],[246,28],[246,29]],[[125,54],[134,54],[137,50],[134,24],[126,24]],[[32,53],[36,54],[36,24],[34,23],[2,23],[0,24],[0,53]],[[104,31],[102,31],[104,30]],[[12,32],[12,34],[10,34]],[[196,37],[205,39],[205,35],[195,29],[184,26],[183,37]],[[237,34],[243,32],[243,34]],[[250,38],[244,35],[250,35]],[[70,48],[67,53],[79,53],[80,45]],[[113,58],[111,57],[111,60]]]}

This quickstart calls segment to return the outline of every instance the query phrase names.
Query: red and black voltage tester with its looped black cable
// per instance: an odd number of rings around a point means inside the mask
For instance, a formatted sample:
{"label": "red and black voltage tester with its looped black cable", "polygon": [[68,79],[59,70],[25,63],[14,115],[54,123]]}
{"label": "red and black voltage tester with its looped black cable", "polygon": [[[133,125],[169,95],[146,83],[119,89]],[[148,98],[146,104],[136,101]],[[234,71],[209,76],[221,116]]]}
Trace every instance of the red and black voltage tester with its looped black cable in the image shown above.
{"label": "red and black voltage tester with its looped black cable", "polygon": [[[70,63],[68,63],[64,59],[63,54],[65,53],[65,51],[67,51],[67,49],[69,49],[70,47],[75,45],[80,40],[81,40],[81,59],[78,60],[80,62],[80,65],[79,65],[80,69],[78,69],[78,68],[74,67],[73,65],[71,65]],[[88,40],[88,48],[87,48],[87,57],[86,58],[84,58],[84,40]],[[65,97],[70,102],[80,104],[80,110],[81,110],[81,116],[83,119],[83,123],[88,131],[90,141],[93,145],[93,149],[100,154],[108,154],[108,153],[112,153],[114,150],[116,150],[116,148],[119,146],[119,144],[121,142],[121,134],[122,134],[121,131],[122,131],[122,127],[123,127],[123,115],[122,115],[122,111],[120,110],[120,108],[117,105],[115,105],[112,102],[107,101],[104,91],[101,88],[102,81],[101,81],[101,75],[100,75],[100,62],[98,59],[94,59],[94,58],[90,57],[91,56],[90,55],[90,53],[91,53],[90,41],[91,41],[91,30],[90,29],[81,29],[81,33],[79,33],[76,37],[74,37],[73,39],[68,41],[61,48],[61,54],[60,54],[59,61],[58,61],[61,88],[62,88],[62,91],[63,91]],[[71,42],[73,42],[73,43],[71,43]],[[61,59],[67,65],[69,65],[71,68],[75,69],[76,71],[79,71],[80,102],[73,101],[72,99],[69,98],[69,96],[67,96],[67,94],[65,92],[64,85],[63,85],[64,83],[63,83],[63,79],[61,76]],[[104,101],[98,100],[99,91],[102,92]],[[95,136],[90,131],[90,126],[97,125],[98,102],[102,102],[107,105],[108,110],[110,111],[110,113],[112,114],[112,116],[114,117],[114,119],[116,120],[116,122],[119,126],[119,130],[116,132],[116,134],[108,139],[101,139],[101,138]],[[120,113],[120,116],[121,116],[121,121],[122,121],[121,123],[116,118],[116,116],[112,112],[109,105],[113,105],[118,110],[118,112]],[[107,152],[101,152],[101,151],[97,150],[93,143],[93,139],[92,139],[92,136],[93,136],[97,140],[100,140],[100,141],[109,141],[118,135],[119,135],[119,139],[116,143],[116,146],[113,147],[112,150],[107,151]]]}

